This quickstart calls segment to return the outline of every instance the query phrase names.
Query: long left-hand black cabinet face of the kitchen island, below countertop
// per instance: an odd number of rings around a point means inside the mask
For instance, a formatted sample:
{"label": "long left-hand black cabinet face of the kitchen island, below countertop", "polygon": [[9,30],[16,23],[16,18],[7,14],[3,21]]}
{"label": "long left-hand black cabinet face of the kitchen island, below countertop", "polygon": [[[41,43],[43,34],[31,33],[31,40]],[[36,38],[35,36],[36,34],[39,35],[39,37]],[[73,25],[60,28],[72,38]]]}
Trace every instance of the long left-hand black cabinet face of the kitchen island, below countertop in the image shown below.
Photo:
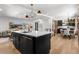
{"label": "long left-hand black cabinet face of the kitchen island, below countertop", "polygon": [[33,54],[32,37],[24,36],[19,33],[12,33],[13,44],[22,54]]}

